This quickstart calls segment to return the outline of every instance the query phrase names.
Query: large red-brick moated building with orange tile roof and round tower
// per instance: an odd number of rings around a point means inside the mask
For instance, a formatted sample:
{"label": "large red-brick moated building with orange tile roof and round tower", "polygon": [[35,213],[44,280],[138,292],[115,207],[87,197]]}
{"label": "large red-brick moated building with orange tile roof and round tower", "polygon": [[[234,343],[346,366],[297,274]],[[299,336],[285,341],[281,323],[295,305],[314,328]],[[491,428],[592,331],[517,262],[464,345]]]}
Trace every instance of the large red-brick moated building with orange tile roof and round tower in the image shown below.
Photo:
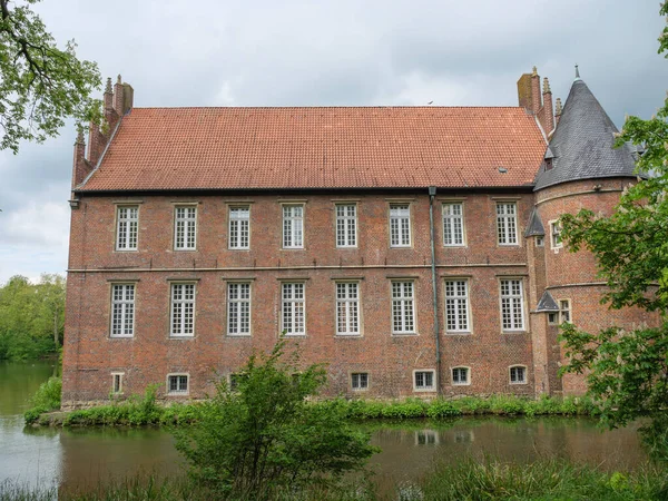
{"label": "large red-brick moated building with orange tile roof and round tower", "polygon": [[[202,397],[279,333],[330,395],[578,393],[558,325],[599,304],[554,224],[609,212],[635,151],[578,77],[518,107],[134,108],[75,144],[63,406]],[[557,127],[554,127],[557,125]],[[292,342],[292,341],[291,341]]]}

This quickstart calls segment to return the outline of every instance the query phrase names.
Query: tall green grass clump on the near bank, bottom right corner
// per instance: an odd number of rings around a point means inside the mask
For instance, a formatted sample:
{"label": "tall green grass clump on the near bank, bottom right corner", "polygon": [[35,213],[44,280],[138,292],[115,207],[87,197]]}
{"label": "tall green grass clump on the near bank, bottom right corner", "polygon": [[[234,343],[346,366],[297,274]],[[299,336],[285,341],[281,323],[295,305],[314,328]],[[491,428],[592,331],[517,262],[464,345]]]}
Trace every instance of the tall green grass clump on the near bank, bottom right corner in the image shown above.
{"label": "tall green grass clump on the near bank, bottom right corner", "polygon": [[668,499],[666,470],[645,466],[637,472],[607,473],[566,460],[530,464],[465,459],[436,465],[414,488],[411,500],[662,500]]}

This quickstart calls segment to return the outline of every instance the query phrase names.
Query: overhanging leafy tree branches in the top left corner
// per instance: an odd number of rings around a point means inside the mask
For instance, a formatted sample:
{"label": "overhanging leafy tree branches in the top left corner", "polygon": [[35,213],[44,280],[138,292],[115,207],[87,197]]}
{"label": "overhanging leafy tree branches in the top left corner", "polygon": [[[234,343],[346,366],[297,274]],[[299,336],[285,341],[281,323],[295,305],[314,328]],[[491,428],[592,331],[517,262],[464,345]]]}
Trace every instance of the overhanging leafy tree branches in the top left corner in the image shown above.
{"label": "overhanging leafy tree branches in the top left corner", "polygon": [[95,62],[77,59],[76,43],[65,49],[30,6],[39,0],[0,0],[0,149],[19,150],[21,140],[58,135],[65,119],[92,118],[89,98],[101,85]]}

